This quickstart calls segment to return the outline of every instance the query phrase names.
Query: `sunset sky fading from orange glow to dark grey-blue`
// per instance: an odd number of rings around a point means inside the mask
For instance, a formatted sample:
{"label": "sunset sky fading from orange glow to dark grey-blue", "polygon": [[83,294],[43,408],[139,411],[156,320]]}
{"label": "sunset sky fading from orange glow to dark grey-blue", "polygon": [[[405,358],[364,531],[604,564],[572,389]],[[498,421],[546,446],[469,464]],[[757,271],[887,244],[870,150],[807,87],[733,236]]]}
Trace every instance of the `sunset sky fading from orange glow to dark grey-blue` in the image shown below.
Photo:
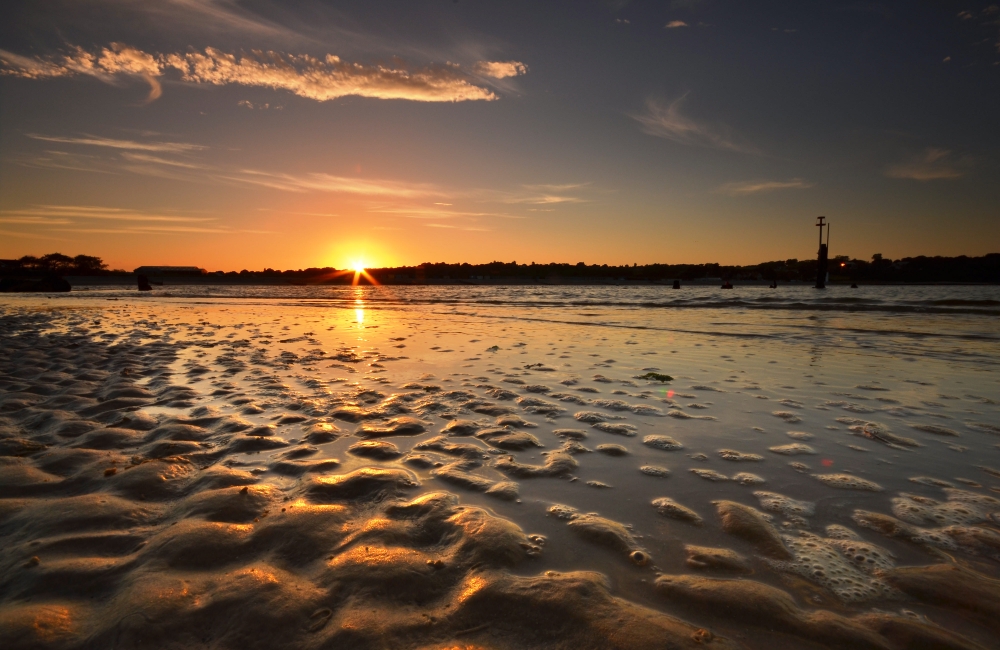
{"label": "sunset sky fading from orange glow to dark grey-blue", "polygon": [[1000,252],[1000,7],[7,0],[0,258]]}

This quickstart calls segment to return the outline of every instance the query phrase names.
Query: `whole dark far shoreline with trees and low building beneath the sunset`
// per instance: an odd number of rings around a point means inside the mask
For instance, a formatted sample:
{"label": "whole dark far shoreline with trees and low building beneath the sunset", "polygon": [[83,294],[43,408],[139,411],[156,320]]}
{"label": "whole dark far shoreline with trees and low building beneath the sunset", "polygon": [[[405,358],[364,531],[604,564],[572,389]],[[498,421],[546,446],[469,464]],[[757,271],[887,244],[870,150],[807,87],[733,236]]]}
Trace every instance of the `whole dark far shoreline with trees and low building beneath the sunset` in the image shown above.
{"label": "whole dark far shoreline with trees and low building beneath the sunset", "polygon": [[[775,260],[750,266],[706,264],[645,264],[609,266],[577,262],[518,264],[449,264],[425,262],[416,266],[336,269],[310,267],[284,271],[264,268],[259,271],[208,271],[199,266],[140,266],[131,272],[108,269],[99,257],[69,257],[50,253],[42,257],[24,256],[0,260],[0,278],[43,279],[63,276],[75,284],[138,285],[145,278],[151,285],[712,285],[727,281],[735,286],[813,285],[818,273],[815,259]],[[899,260],[880,254],[871,261],[834,256],[828,267],[827,283],[873,286],[903,285],[979,285],[1000,284],[1000,253],[981,257],[908,257]]]}

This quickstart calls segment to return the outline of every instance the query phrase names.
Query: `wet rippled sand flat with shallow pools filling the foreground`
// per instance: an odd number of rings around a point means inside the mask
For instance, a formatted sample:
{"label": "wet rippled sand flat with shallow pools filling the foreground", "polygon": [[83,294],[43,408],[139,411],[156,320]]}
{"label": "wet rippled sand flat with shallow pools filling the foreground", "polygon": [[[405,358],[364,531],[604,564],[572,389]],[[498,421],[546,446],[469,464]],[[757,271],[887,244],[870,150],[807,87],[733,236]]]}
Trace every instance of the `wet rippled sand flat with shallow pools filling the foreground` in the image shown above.
{"label": "wet rippled sand flat with shallow pools filling the foreground", "polygon": [[997,647],[989,337],[370,297],[0,303],[4,647]]}

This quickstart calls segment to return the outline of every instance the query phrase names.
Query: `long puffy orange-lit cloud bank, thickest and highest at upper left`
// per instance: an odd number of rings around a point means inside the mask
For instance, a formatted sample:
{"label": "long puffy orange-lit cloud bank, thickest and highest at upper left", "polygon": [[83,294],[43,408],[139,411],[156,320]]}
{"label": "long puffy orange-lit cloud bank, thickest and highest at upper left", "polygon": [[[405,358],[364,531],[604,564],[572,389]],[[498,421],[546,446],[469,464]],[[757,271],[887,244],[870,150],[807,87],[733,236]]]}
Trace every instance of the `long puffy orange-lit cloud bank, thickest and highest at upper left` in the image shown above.
{"label": "long puffy orange-lit cloud bank, thickest and highest at upper left", "polygon": [[[315,57],[261,50],[228,53],[212,47],[204,52],[155,54],[120,43],[96,53],[75,47],[49,57],[24,57],[0,50],[0,62],[0,73],[27,79],[89,75],[110,83],[122,76],[142,78],[150,84],[147,101],[162,94],[159,78],[171,72],[188,83],[287,90],[316,101],[349,95],[420,102],[498,99],[490,89],[473,83],[472,76],[455,63],[417,68],[401,62],[392,66],[365,65],[343,61],[333,54]],[[478,75],[495,79],[527,71],[528,67],[519,61],[480,61],[472,68]]]}

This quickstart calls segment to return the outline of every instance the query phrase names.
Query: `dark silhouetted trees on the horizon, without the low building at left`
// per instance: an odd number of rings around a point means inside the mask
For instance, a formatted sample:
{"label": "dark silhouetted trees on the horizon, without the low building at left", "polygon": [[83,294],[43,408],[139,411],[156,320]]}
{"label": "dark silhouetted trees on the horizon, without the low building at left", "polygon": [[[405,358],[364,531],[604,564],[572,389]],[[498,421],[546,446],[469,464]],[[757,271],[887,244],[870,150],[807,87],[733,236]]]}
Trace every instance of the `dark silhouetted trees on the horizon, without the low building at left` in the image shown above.
{"label": "dark silhouetted trees on the horizon, without the low building at left", "polygon": [[[834,282],[986,282],[1000,284],[1000,253],[982,257],[906,257],[891,260],[880,254],[870,260],[835,257],[830,261],[830,279]],[[131,275],[109,271],[99,257],[70,257],[51,253],[41,257],[26,255],[17,260],[0,260],[0,274],[7,276],[41,275]],[[816,278],[816,260],[787,259],[746,266],[723,264],[447,264],[427,262],[416,266],[373,268],[367,275],[380,284],[422,284],[447,282],[664,282],[713,278],[739,282],[764,280],[812,282]],[[216,271],[202,276],[201,282],[236,282],[267,284],[351,284],[353,271],[331,267],[278,271]],[[362,284],[368,280],[361,276]]]}

